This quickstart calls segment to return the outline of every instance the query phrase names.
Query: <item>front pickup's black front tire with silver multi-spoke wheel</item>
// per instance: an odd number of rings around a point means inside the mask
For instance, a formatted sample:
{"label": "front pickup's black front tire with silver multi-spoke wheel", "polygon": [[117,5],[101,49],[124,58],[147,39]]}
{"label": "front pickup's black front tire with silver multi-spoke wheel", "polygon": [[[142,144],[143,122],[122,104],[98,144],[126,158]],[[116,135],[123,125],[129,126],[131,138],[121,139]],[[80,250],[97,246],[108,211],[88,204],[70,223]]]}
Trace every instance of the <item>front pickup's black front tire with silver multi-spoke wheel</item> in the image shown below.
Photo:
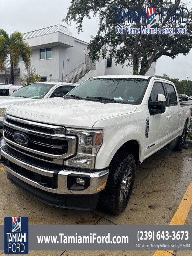
{"label": "front pickup's black front tire with silver multi-spoke wheel", "polygon": [[[128,176],[130,172],[131,178],[130,175]],[[98,206],[102,210],[112,215],[118,215],[126,208],[133,189],[135,172],[135,159],[132,154],[118,152],[114,156],[109,165],[106,188],[100,193]],[[128,191],[122,189],[123,181],[124,189],[127,188]]]}

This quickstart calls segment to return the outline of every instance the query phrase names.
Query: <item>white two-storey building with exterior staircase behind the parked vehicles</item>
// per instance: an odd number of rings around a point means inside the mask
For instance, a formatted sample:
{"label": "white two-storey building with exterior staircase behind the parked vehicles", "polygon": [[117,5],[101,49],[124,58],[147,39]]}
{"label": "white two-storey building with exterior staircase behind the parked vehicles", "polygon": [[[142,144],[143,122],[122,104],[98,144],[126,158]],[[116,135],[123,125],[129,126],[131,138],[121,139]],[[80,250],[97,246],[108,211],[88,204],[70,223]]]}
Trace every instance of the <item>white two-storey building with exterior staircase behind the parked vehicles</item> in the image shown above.
{"label": "white two-storey building with exterior staircase behind the parked vehicles", "polygon": [[[68,28],[60,24],[24,33],[23,38],[32,48],[31,65],[43,81],[62,80],[63,77],[66,82],[80,83],[93,76],[132,74],[132,67],[116,66],[114,60],[91,63],[88,43],[74,38]],[[18,69],[14,70],[15,84],[19,84],[17,77],[23,76],[24,71],[24,62],[20,59]],[[154,74],[155,64],[147,72],[147,75]],[[10,60],[0,73],[0,83],[4,82],[11,83]]]}

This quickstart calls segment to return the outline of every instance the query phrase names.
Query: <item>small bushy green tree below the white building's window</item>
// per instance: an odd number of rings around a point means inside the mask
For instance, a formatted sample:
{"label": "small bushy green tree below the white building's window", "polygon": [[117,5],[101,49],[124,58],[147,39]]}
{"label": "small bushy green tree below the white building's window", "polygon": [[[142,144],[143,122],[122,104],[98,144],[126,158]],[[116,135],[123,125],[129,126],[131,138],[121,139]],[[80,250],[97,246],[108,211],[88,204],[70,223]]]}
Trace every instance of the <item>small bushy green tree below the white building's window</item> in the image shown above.
{"label": "small bushy green tree below the white building's window", "polygon": [[20,85],[26,85],[35,82],[41,82],[41,77],[37,74],[35,68],[28,68],[27,71],[24,72],[24,76],[19,76],[18,80]]}

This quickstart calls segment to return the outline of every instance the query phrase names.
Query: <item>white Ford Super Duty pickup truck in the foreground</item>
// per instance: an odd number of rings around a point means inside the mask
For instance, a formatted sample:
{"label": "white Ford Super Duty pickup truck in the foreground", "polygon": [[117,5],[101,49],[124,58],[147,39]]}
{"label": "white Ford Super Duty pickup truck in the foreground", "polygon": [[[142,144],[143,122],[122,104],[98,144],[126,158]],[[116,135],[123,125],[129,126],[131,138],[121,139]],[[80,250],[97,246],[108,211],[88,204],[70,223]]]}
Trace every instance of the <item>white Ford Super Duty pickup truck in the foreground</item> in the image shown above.
{"label": "white Ford Super Duty pickup truck in the foreground", "polygon": [[42,202],[117,215],[136,164],[173,140],[182,150],[191,116],[168,80],[90,78],[64,98],[10,106],[1,162],[10,182]]}

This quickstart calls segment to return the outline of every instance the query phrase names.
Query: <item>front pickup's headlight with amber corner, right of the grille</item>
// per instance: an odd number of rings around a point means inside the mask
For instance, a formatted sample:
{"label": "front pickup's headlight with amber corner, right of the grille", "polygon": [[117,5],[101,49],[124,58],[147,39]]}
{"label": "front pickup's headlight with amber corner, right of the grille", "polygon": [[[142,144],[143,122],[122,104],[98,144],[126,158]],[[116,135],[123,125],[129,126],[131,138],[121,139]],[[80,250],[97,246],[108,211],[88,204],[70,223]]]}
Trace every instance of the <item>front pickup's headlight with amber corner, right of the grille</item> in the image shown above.
{"label": "front pickup's headlight with amber corner, right of the grille", "polygon": [[102,145],[102,130],[78,130],[66,129],[66,134],[78,137],[77,154],[73,158],[64,161],[64,165],[93,169],[95,158]]}

